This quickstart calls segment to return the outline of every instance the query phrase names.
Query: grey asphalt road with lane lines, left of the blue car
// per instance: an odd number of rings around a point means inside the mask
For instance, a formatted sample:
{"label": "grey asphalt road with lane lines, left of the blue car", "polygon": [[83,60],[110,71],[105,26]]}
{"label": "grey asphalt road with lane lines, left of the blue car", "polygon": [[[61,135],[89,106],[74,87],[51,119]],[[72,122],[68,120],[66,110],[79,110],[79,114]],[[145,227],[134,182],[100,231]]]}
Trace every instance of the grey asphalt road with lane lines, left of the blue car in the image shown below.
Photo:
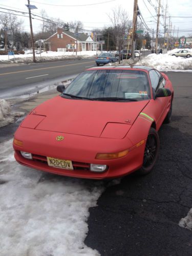
{"label": "grey asphalt road with lane lines, left of the blue car", "polygon": [[95,58],[20,64],[7,67],[1,67],[0,65],[0,94],[11,88],[78,74],[93,66],[95,66]]}

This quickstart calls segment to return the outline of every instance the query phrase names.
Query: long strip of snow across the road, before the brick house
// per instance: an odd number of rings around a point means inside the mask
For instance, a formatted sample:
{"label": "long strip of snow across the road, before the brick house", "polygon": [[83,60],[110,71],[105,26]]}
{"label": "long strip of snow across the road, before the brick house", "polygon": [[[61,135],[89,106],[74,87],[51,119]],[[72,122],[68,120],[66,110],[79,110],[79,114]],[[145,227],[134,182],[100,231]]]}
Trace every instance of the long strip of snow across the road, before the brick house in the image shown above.
{"label": "long strip of snow across the road, before the brick house", "polygon": [[[68,59],[68,58],[86,58],[86,57],[91,57],[95,56],[96,54],[99,54],[100,51],[81,51],[81,52],[42,52],[41,57],[40,54],[35,53],[36,59],[41,61],[49,61],[49,60],[59,60],[59,59]],[[14,58],[15,57],[15,58]],[[7,62],[32,62],[33,61],[33,54],[15,54],[14,56],[9,56],[8,55],[0,55],[0,62],[1,61],[7,61]]]}

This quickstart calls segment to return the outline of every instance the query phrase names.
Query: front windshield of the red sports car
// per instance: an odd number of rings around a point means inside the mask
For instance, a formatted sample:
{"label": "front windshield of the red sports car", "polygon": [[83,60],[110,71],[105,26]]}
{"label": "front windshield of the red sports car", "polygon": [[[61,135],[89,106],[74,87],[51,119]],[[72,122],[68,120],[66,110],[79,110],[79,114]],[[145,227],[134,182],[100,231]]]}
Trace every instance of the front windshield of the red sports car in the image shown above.
{"label": "front windshield of the red sports car", "polygon": [[62,97],[108,101],[150,99],[144,71],[90,70],[78,75],[63,91]]}

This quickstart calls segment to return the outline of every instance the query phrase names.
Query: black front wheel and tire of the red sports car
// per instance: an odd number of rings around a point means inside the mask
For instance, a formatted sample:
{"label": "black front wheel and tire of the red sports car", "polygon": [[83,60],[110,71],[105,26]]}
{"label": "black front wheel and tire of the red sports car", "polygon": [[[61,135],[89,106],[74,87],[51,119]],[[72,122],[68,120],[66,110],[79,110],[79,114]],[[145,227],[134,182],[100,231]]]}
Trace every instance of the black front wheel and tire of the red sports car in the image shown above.
{"label": "black front wheel and tire of the red sports car", "polygon": [[159,154],[159,135],[157,131],[151,127],[150,132],[148,133],[145,150],[143,155],[143,165],[137,171],[139,175],[146,175],[152,171],[154,168],[158,154]]}

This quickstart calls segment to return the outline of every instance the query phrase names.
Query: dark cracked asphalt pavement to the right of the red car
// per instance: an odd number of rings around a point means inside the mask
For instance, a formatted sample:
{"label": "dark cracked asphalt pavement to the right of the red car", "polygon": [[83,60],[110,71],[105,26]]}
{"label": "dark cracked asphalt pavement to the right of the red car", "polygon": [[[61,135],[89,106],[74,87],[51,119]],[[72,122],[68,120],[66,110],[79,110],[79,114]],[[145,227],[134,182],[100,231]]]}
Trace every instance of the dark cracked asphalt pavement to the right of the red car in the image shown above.
{"label": "dark cracked asphalt pavement to the right of the red car", "polygon": [[85,243],[101,255],[192,255],[192,231],[179,226],[192,207],[191,74],[167,75],[175,90],[173,115],[159,131],[154,171],[122,178],[90,208]]}

